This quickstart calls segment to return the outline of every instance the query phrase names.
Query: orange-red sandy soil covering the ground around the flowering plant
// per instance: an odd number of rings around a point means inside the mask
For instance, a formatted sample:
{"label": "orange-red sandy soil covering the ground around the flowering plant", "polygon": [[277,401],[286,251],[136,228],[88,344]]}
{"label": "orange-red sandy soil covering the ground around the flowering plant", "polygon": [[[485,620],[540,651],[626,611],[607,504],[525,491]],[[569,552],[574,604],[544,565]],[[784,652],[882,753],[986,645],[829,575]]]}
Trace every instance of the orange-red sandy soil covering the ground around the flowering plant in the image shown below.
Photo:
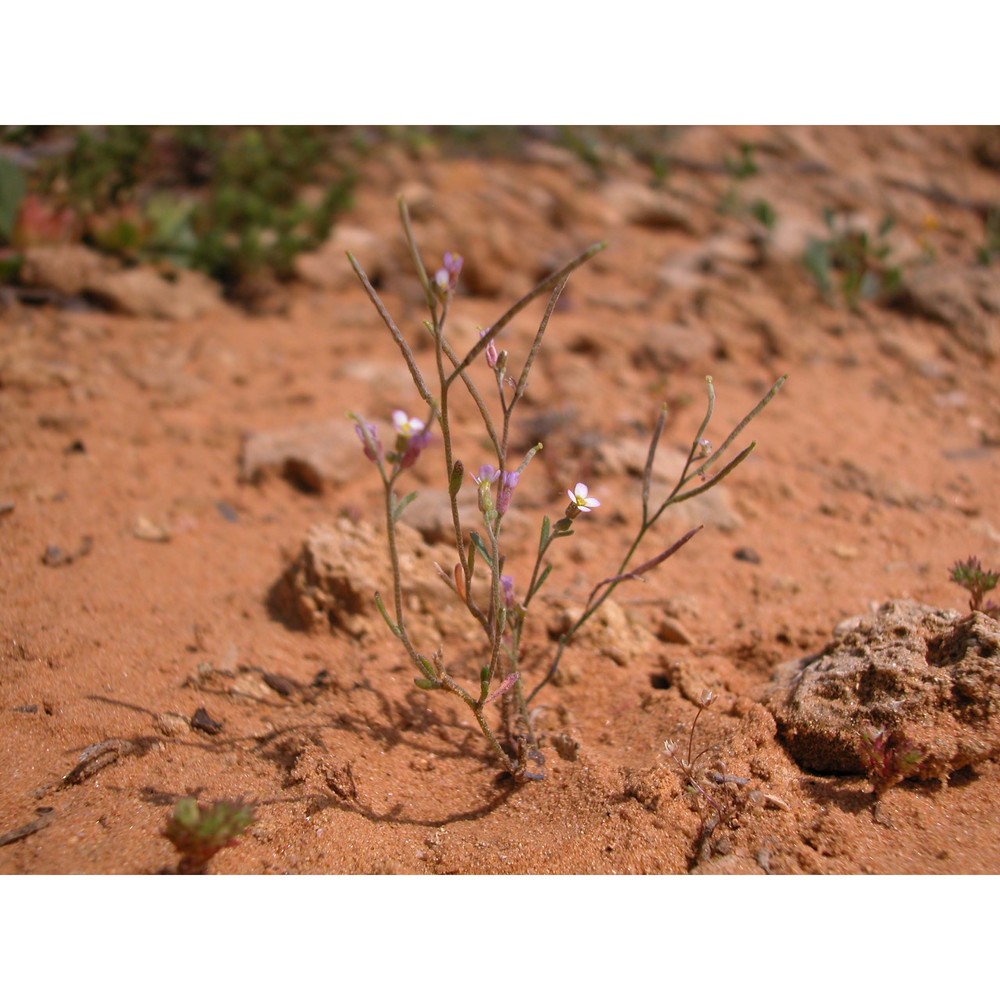
{"label": "orange-red sandy soil covering the ground around the flowering plant", "polygon": [[[339,244],[263,315],[221,300],[183,320],[4,300],[0,873],[170,869],[162,831],[183,796],[255,803],[254,825],[211,862],[219,873],[1000,872],[997,762],[907,781],[875,808],[864,776],[802,770],[762,704],[775,668],[818,652],[844,619],[890,599],[964,610],[950,566],[1000,563],[996,298],[968,284],[995,287],[1000,273],[976,262],[986,206],[1000,202],[984,162],[995,139],[644,135],[672,163],[655,190],[625,133],[607,133],[599,172],[543,139],[511,159],[389,147],[366,161],[341,220],[425,368],[400,191],[428,266],[446,250],[465,257],[450,326],[463,349],[545,274],[608,241],[570,279],[515,433],[522,452],[545,440],[509,522],[515,576],[567,487],[582,480],[602,501],[556,553],[536,649],[632,537],[639,480],[621,456],[641,453],[660,405],[661,448],[686,449],[711,375],[718,444],[789,376],[745,432],[757,449],[717,506],[665,518],[648,555],[692,516],[705,529],[568,648],[538,699],[539,782],[505,780],[465,707],[414,686],[373,606],[351,632],[308,631],[273,600],[310,527],[381,525],[378,477],[346,412],[386,438],[392,410],[419,409]],[[759,170],[734,179],[724,163],[742,142]],[[777,215],[771,234],[746,210],[757,199]],[[824,235],[825,207],[871,233],[896,218],[887,240],[909,305],[823,299],[801,255]],[[913,305],[917,283],[946,267],[958,304]],[[512,358],[539,314],[504,335]],[[465,416],[463,460],[476,468],[490,456]],[[322,421],[337,458],[318,492],[280,470],[242,474],[248,435]],[[442,464],[432,446],[413,488],[443,488]],[[443,585],[440,606],[455,607]],[[466,633],[446,640],[456,674]],[[544,662],[529,654],[528,672]],[[711,806],[664,751],[686,750],[705,689],[717,698],[695,751],[748,779],[717,786],[726,816],[710,830]],[[192,728],[199,709],[221,729]]]}

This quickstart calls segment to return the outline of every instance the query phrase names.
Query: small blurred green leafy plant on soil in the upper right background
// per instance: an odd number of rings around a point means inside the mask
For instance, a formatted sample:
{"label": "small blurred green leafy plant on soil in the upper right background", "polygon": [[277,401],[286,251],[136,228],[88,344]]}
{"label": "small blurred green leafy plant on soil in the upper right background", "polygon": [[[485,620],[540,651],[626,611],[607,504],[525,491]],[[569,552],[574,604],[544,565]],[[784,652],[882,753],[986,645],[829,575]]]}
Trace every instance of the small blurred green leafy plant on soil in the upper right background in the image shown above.
{"label": "small blurred green leafy plant on soil in the upper right background", "polygon": [[816,287],[827,298],[839,291],[852,310],[866,299],[891,300],[902,284],[902,269],[890,261],[892,248],[885,241],[895,220],[887,215],[875,234],[861,229],[832,209],[823,212],[827,236],[812,238],[802,262]]}

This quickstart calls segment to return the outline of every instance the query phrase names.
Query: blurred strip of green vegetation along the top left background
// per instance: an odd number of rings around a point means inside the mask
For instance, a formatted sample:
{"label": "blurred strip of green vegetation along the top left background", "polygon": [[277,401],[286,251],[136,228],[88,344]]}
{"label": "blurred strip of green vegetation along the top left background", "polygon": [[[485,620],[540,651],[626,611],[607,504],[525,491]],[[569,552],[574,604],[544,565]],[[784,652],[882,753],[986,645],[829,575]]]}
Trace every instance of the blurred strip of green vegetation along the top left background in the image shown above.
{"label": "blurred strip of green vegetation along the top left background", "polygon": [[[351,201],[366,158],[386,144],[413,156],[514,157],[544,139],[596,172],[599,126],[0,126],[0,282],[24,250],[82,242],[126,263],[191,268],[239,300],[283,281]],[[655,133],[630,131],[633,154]],[[635,134],[632,135],[631,132]]]}

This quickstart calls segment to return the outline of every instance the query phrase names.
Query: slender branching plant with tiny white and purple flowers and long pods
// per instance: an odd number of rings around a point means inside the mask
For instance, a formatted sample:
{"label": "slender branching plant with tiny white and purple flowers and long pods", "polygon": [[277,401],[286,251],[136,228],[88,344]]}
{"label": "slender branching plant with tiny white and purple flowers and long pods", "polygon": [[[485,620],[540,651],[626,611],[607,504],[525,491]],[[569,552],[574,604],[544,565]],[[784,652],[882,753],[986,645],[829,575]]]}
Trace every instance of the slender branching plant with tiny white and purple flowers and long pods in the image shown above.
{"label": "slender branching plant with tiny white and purple flowers and long pods", "polygon": [[[577,268],[600,252],[604,244],[595,244],[539,283],[492,326],[480,330],[476,343],[463,355],[455,349],[445,332],[449,306],[458,290],[463,259],[456,253],[446,253],[441,266],[429,271],[421,258],[410,224],[409,212],[402,199],[399,208],[410,256],[423,287],[430,314],[425,326],[431,334],[434,345],[436,378],[433,382],[425,377],[410,343],[389,314],[360,264],[352,254],[347,255],[368,297],[399,348],[420,398],[427,406],[424,419],[410,417],[402,410],[392,414],[395,439],[391,450],[383,448],[374,423],[356,413],[349,414],[354,421],[355,431],[365,456],[378,469],[385,496],[386,536],[392,568],[392,600],[391,606],[387,607],[382,595],[376,593],[375,604],[416,668],[417,686],[425,690],[444,691],[458,697],[471,710],[496,757],[513,778],[518,782],[539,779],[543,776],[541,765],[544,760],[538,751],[530,708],[532,701],[555,677],[563,652],[573,637],[617,587],[627,581],[641,581],[642,574],[659,566],[700,530],[695,528],[689,531],[652,558],[634,565],[645,535],[669,506],[710,489],[750,454],[754,443],[738,452],[725,465],[713,468],[737,435],[771,400],[784,382],[784,377],[774,384],[767,395],[714,451],[703,436],[711,419],[715,401],[712,380],[710,378],[706,380],[708,411],[705,419],[695,436],[677,484],[659,507],[653,509],[649,497],[653,459],[667,417],[666,408],[661,409],[653,429],[643,474],[642,519],[636,537],[618,564],[617,570],[611,576],[599,581],[591,590],[583,610],[558,638],[556,648],[548,659],[548,668],[529,691],[523,675],[522,642],[525,638],[525,622],[532,604],[553,571],[553,564],[548,561],[548,556],[556,543],[574,533],[575,522],[581,514],[593,515],[587,518],[588,522],[598,520],[597,512],[601,507],[601,501],[591,495],[590,487],[586,483],[579,482],[572,489],[567,488],[569,503],[562,517],[555,522],[548,516],[542,518],[534,567],[527,586],[519,587],[514,576],[504,572],[506,561],[504,517],[515,502],[517,488],[542,445],[540,443],[534,445],[520,461],[517,461],[508,447],[511,418],[524,396],[529,374],[566,282]],[[497,347],[497,336],[527,305],[543,295],[548,295],[548,302],[538,330],[520,371],[514,372],[511,370],[508,352]],[[477,364],[480,366],[479,369],[475,367]],[[494,383],[495,402],[492,405],[488,404],[486,396],[474,378],[477,370],[488,382]],[[453,434],[454,393],[458,390],[464,390],[475,404],[492,452],[491,461],[479,465],[475,473],[468,474],[468,478],[466,466],[456,454]],[[438,649],[428,654],[417,648],[407,622],[407,606],[403,599],[405,581],[400,571],[396,526],[400,516],[416,497],[416,493],[411,492],[400,497],[397,485],[400,477],[420,458],[432,436],[438,434],[443,446],[441,450],[444,455],[444,476],[448,484],[456,557],[451,572],[445,572],[440,567],[438,569],[444,584],[457,598],[464,611],[474,619],[483,634],[483,653],[478,665],[478,676],[473,674],[472,677],[456,673],[446,663],[443,650]],[[474,486],[476,489],[480,524],[475,529],[471,529],[462,521],[458,498],[463,486]],[[589,527],[592,525],[588,524]],[[481,581],[485,586],[474,590],[474,581]],[[477,594],[488,594],[488,596],[482,597]],[[491,707],[494,703],[499,706],[499,723],[494,714],[496,708]]]}

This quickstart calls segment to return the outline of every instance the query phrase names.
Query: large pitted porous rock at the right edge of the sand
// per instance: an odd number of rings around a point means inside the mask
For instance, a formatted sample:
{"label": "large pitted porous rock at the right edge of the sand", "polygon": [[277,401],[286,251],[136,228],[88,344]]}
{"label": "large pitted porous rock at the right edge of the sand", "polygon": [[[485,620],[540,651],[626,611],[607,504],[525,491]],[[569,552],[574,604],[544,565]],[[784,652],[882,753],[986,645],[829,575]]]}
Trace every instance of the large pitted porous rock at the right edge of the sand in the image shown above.
{"label": "large pitted porous rock at the right edge of the sand", "polygon": [[1000,754],[1000,624],[973,612],[890,601],[834,630],[820,653],[783,664],[765,704],[796,762],[862,774],[867,728],[923,754],[918,776],[944,778]]}

